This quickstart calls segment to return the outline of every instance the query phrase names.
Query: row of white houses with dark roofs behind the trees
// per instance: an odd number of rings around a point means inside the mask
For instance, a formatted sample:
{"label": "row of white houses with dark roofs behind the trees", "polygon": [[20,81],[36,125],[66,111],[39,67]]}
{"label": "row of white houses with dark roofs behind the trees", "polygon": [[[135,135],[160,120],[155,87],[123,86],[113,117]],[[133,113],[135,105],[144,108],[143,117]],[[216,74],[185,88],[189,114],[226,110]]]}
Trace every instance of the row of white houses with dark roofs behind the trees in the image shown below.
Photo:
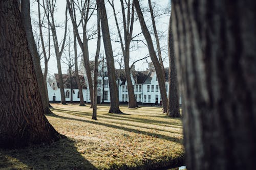
{"label": "row of white houses with dark roofs behind the trees", "polygon": [[[106,64],[104,63],[104,65]],[[100,62],[98,68],[98,103],[110,103],[108,70],[104,65],[102,66],[102,62]],[[91,71],[93,71],[93,61],[91,61],[91,68]],[[88,79],[83,64],[80,64],[79,70],[79,79],[82,84],[83,99],[85,102],[90,103],[90,92],[89,88],[87,88]],[[144,71],[136,71],[133,67],[131,72],[132,83],[134,86],[134,93],[137,102],[139,104],[161,104],[161,95],[154,67],[151,66],[149,69]],[[71,77],[73,87],[72,93],[69,75],[62,75],[62,77],[65,87],[66,101],[71,101],[72,97],[73,102],[79,102],[79,92],[77,83],[75,81],[75,76],[72,75]],[[119,90],[119,102],[126,103],[129,101],[129,95],[123,69],[116,69],[116,78]],[[168,68],[165,69],[165,80],[166,93],[168,93]],[[48,95],[50,102],[60,102],[58,74],[55,74],[53,80],[48,84]]]}

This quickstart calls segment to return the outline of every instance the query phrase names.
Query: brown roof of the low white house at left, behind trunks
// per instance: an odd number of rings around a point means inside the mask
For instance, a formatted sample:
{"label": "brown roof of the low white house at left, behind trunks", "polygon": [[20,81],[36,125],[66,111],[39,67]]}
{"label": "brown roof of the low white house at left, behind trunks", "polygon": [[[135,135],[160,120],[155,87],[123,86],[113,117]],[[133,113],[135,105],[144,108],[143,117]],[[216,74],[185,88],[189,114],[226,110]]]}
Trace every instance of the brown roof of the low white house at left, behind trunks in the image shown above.
{"label": "brown roof of the low white house at left, behind trunks", "polygon": [[[54,76],[55,76],[55,79],[56,79],[56,82],[57,82],[57,86],[59,88],[59,75],[58,74],[54,74]],[[71,88],[71,83],[70,83],[69,75],[62,74],[62,78],[63,78],[64,88]],[[82,75],[79,75],[79,80],[80,80],[80,83],[82,85],[82,89],[87,89],[86,81],[84,80],[84,77]],[[78,85],[77,85],[77,82],[76,82],[75,74],[72,74],[71,82],[72,82],[73,89],[78,89]]]}

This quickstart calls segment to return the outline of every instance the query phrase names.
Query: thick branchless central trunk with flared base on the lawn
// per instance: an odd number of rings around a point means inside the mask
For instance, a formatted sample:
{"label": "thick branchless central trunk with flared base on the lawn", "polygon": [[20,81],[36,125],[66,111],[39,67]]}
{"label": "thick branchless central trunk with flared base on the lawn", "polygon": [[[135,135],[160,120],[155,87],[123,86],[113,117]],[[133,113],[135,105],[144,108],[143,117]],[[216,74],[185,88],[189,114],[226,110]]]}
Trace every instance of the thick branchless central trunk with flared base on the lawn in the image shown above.
{"label": "thick branchless central trunk with flared base on the lawn", "polygon": [[114,57],[113,57],[111,40],[110,40],[108,17],[106,16],[104,1],[97,0],[97,6],[98,6],[98,9],[100,10],[101,31],[102,31],[102,37],[104,42],[104,48],[105,48],[106,63],[108,66],[110,101],[111,101],[109,113],[122,113],[119,109]]}

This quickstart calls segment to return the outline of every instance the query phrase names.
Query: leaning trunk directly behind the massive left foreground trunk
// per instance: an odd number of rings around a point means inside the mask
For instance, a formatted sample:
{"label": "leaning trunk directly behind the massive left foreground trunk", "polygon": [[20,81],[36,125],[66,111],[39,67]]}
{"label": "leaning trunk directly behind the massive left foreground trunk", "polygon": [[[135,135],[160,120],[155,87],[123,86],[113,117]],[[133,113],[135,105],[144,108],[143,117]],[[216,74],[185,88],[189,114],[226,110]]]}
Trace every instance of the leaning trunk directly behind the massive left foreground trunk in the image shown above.
{"label": "leaning trunk directly behind the massive left foreground trunk", "polygon": [[39,87],[39,92],[42,101],[42,107],[44,108],[45,114],[52,113],[49,109],[49,98],[48,93],[46,91],[47,87],[45,87],[46,82],[42,76],[42,70],[40,65],[40,56],[38,55],[35,39],[33,36],[32,26],[31,26],[31,19],[30,19],[30,3],[29,1],[21,1],[21,17],[22,22],[25,28],[26,37],[28,40],[29,51],[32,56],[32,61],[35,69],[36,80]]}

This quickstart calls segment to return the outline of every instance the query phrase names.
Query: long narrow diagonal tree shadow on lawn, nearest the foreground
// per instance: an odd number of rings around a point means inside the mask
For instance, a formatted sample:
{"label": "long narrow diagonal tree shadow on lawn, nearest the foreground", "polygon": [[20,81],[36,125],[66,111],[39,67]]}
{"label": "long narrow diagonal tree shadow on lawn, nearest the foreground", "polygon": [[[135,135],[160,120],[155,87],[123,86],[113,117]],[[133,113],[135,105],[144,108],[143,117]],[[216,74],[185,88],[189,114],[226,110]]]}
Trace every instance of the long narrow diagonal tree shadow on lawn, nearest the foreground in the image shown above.
{"label": "long narrow diagonal tree shadow on lawn, nearest the foreground", "polygon": [[56,114],[50,114],[49,116],[63,118],[63,119],[69,119],[69,120],[76,120],[76,121],[80,121],[80,122],[84,122],[84,123],[96,124],[96,125],[106,126],[106,127],[115,128],[115,129],[121,129],[121,130],[124,130],[124,131],[134,132],[134,133],[138,133],[138,134],[144,134],[144,135],[147,135],[147,136],[155,136],[155,137],[162,138],[162,139],[169,140],[169,141],[173,141],[173,142],[176,142],[176,143],[181,143],[182,142],[181,139],[176,138],[176,137],[161,135],[161,134],[152,133],[152,132],[141,131],[141,130],[132,129],[132,128],[125,128],[125,127],[117,126],[117,125],[104,124],[104,123],[94,121],[94,120],[77,119],[77,118],[59,116],[59,115],[56,115]]}

